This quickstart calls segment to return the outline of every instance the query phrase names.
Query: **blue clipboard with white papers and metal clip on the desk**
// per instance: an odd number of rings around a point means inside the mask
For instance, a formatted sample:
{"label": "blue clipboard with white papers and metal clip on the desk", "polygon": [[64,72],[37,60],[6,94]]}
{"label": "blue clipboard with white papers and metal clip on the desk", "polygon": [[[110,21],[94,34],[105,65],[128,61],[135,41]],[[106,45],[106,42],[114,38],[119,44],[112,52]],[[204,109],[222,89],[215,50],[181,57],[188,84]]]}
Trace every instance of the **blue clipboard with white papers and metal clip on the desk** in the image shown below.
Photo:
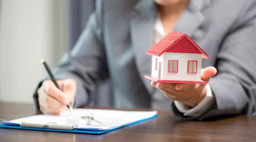
{"label": "blue clipboard with white papers and metal clip on the desk", "polygon": [[[59,116],[42,114],[11,121],[2,120],[0,122],[0,128],[100,134],[153,119],[157,116],[156,111],[122,111],[84,108],[74,109],[74,114],[75,115],[72,115],[67,110]],[[78,123],[72,123],[72,120]]]}

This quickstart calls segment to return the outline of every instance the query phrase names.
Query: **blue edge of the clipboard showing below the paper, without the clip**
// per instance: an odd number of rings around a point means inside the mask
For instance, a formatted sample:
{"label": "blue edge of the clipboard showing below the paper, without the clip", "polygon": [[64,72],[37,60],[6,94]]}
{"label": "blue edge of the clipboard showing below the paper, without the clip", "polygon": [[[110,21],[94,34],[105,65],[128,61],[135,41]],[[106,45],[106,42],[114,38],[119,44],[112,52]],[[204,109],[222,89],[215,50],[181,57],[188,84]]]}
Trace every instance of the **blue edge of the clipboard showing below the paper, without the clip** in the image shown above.
{"label": "blue edge of the clipboard showing below the paper, without the clip", "polygon": [[78,130],[78,129],[73,129],[73,130],[57,130],[57,129],[43,129],[43,128],[29,128],[29,127],[20,127],[20,125],[17,124],[0,124],[0,128],[10,128],[10,129],[22,129],[22,130],[38,130],[38,131],[54,131],[54,132],[68,132],[68,133],[84,133],[84,134],[102,134],[105,132],[109,132],[109,131],[114,131],[120,128],[124,128],[126,126],[130,126],[136,123],[140,123],[143,121],[147,121],[149,119],[153,119],[156,118],[157,115],[146,118],[146,119],[141,119],[139,121],[135,121],[133,123],[129,123],[117,128],[113,128],[113,129],[108,129],[108,130],[97,130],[97,129],[87,129],[87,130]]}

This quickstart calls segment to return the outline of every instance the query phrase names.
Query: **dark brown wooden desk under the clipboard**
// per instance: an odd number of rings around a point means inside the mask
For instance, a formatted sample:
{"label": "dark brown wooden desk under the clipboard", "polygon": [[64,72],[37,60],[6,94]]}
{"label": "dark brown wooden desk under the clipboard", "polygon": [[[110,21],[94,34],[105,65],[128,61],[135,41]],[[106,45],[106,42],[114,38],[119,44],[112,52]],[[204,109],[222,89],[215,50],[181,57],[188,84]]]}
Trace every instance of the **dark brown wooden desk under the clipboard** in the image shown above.
{"label": "dark brown wooden desk under the clipboard", "polygon": [[[35,113],[29,104],[1,103],[0,118],[11,120]],[[158,111],[156,119],[100,135],[73,134],[0,128],[1,142],[205,142],[256,141],[256,117],[236,116],[216,121],[184,121],[169,111]]]}

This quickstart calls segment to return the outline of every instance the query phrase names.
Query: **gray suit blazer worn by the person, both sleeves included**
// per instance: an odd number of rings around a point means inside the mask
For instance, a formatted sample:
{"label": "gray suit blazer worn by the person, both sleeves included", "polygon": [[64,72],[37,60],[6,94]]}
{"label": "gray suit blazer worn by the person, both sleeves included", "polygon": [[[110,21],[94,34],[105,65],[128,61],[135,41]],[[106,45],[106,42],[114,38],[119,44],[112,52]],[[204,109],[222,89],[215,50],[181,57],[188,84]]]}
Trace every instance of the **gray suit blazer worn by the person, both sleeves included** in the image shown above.
{"label": "gray suit blazer worn by the person, both sleeves included", "polygon": [[[54,70],[59,79],[76,80],[75,107],[172,108],[183,116],[143,77],[151,74],[151,56],[145,52],[154,45],[156,14],[153,0],[96,2],[74,49]],[[256,1],[190,0],[174,32],[187,33],[210,56],[203,68],[218,69],[209,82],[216,104],[196,119],[254,115]],[[36,93],[34,98],[38,107]]]}

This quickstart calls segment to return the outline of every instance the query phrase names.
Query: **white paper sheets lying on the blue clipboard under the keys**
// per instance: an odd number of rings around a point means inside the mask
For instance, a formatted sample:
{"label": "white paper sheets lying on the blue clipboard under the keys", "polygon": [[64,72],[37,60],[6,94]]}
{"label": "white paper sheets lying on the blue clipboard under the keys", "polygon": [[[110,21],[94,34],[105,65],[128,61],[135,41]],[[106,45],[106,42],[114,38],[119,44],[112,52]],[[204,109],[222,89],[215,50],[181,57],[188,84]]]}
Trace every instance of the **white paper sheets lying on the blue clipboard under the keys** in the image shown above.
{"label": "white paper sheets lying on the blue clipboard under the keys", "polygon": [[[79,126],[79,128],[99,128],[102,130],[113,129],[119,126],[123,126],[129,123],[133,123],[142,119],[147,119],[153,117],[157,114],[156,111],[121,111],[121,110],[104,110],[104,109],[84,109],[76,108],[74,109],[74,114],[77,117],[86,116],[88,112],[92,112],[95,120],[102,122],[101,126],[91,126],[84,125]],[[72,116],[72,114],[67,110],[60,114],[60,116],[54,115],[36,115],[20,119],[11,120],[9,122],[18,123],[56,123],[58,125],[70,125],[66,122],[66,118]]]}

